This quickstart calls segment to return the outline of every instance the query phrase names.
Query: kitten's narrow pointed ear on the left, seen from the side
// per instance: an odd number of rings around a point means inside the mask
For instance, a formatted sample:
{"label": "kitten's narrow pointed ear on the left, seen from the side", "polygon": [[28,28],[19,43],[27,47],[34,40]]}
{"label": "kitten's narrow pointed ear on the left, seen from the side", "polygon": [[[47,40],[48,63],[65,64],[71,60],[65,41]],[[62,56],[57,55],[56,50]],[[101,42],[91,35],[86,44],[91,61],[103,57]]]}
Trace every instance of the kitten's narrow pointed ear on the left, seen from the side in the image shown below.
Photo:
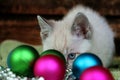
{"label": "kitten's narrow pointed ear on the left, seen from the side", "polygon": [[41,37],[43,40],[45,40],[49,36],[49,34],[53,31],[53,26],[51,26],[53,23],[52,21],[49,22],[46,19],[43,19],[39,15],[37,15],[37,19],[41,29]]}

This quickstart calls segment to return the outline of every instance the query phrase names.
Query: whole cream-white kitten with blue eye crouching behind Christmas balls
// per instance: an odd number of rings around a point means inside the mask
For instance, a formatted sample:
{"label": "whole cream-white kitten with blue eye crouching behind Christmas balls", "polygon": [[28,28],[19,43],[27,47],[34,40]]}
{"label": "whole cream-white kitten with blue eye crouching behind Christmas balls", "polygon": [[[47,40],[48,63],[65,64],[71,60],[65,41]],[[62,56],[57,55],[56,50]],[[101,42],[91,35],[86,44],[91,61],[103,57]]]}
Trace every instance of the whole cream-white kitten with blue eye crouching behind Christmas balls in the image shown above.
{"label": "whole cream-white kitten with blue eye crouching behind Christmas balls", "polygon": [[97,55],[108,67],[114,53],[114,33],[106,20],[88,7],[76,6],[59,21],[37,16],[43,49],[62,52],[71,67],[74,59],[84,52]]}

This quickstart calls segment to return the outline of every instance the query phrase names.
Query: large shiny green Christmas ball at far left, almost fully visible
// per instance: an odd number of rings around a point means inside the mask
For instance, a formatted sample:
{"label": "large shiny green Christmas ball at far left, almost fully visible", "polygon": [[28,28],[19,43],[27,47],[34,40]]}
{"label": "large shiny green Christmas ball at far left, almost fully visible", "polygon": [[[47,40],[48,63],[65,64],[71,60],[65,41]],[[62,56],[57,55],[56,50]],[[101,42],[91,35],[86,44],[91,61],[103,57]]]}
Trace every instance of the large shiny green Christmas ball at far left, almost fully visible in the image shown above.
{"label": "large shiny green Christmas ball at far left, almost fully visible", "polygon": [[33,77],[33,65],[39,53],[31,46],[21,45],[10,52],[8,67],[19,76]]}

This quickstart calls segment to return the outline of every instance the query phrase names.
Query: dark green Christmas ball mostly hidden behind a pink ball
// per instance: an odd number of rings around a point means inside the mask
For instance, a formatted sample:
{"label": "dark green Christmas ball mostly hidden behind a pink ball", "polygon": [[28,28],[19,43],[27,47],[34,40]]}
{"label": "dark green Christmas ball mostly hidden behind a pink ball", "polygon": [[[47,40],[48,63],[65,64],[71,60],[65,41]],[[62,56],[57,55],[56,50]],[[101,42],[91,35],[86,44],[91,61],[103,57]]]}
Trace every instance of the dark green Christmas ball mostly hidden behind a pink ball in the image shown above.
{"label": "dark green Christmas ball mostly hidden behind a pink ball", "polygon": [[54,49],[49,49],[49,50],[43,51],[41,53],[41,56],[48,55],[48,54],[52,54],[52,55],[56,55],[56,56],[60,57],[62,60],[64,60],[64,62],[66,64],[66,59],[61,52],[54,50]]}

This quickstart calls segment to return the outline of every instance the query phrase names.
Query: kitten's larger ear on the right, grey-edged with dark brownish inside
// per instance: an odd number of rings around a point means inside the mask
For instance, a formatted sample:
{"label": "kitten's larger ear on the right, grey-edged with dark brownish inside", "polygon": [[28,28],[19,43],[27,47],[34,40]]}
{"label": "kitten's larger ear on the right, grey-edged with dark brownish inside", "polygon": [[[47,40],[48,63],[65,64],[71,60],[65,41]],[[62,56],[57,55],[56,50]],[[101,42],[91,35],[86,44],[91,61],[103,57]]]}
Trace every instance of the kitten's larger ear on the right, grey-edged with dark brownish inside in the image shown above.
{"label": "kitten's larger ear on the right, grey-edged with dark brownish inside", "polygon": [[85,39],[91,38],[91,27],[88,18],[83,13],[78,13],[74,19],[71,27],[71,33],[73,36],[83,36]]}

